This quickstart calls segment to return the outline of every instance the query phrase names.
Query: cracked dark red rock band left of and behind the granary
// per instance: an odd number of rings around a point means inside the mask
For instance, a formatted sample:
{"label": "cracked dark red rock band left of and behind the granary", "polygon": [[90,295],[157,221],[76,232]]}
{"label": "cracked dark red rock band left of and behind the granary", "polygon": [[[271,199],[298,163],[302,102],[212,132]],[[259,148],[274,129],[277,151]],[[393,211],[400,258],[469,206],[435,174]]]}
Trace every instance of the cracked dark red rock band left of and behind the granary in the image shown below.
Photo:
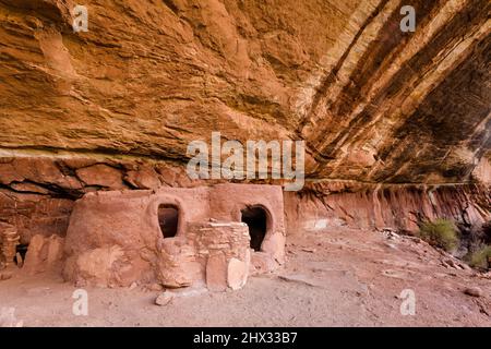
{"label": "cracked dark red rock band left of and behind the granary", "polygon": [[[16,226],[22,242],[27,243],[35,234],[64,236],[73,201],[84,193],[188,186],[190,183],[182,168],[159,163],[3,158],[0,161],[0,221]],[[200,183],[195,181],[192,185]]]}

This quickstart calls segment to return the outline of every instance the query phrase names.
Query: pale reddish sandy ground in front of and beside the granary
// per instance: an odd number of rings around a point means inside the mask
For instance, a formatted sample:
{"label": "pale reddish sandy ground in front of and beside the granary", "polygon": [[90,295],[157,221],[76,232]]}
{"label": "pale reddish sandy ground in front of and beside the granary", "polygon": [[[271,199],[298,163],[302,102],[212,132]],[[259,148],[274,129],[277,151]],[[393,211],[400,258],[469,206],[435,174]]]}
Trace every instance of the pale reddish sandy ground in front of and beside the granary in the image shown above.
{"label": "pale reddish sandy ground in front of and beside the granary", "polygon": [[[251,277],[239,291],[175,298],[159,292],[95,289],[88,315],[75,316],[75,287],[17,273],[0,281],[0,308],[24,326],[491,326],[491,275],[442,263],[447,256],[407,237],[350,229],[288,238],[288,262]],[[478,287],[481,297],[465,294]],[[402,315],[400,292],[416,297]]]}

